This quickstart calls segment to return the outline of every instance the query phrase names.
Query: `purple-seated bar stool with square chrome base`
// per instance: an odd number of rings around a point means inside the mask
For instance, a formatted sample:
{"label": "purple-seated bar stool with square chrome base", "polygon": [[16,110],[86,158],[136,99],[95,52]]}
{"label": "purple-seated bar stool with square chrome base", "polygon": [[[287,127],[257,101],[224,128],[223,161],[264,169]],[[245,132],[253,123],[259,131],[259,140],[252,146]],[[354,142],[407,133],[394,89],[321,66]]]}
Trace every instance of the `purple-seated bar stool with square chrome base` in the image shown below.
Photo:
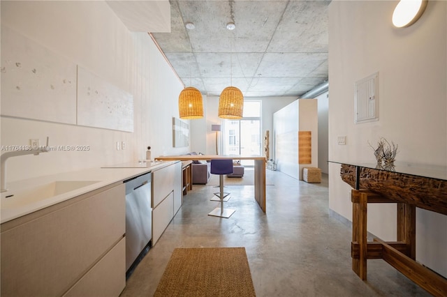
{"label": "purple-seated bar stool with square chrome base", "polygon": [[214,210],[211,213],[208,213],[208,215],[221,218],[230,218],[230,216],[233,215],[233,213],[235,212],[234,209],[223,209],[223,199],[228,197],[228,195],[230,194],[223,192],[223,176],[232,173],[233,173],[233,160],[231,159],[211,160],[211,174],[219,174],[220,192],[214,193],[214,195],[219,197],[219,201],[221,201],[221,207],[214,208]]}

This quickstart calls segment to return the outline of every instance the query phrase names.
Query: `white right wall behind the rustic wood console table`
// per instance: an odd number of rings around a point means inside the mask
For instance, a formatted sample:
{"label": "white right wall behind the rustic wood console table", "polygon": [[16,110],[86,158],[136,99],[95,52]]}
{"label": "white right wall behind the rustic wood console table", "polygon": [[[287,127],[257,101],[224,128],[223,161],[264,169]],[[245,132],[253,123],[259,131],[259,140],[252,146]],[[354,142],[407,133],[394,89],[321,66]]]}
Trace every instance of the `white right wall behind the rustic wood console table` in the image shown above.
{"label": "white right wall behind the rustic wood console table", "polygon": [[[397,161],[447,166],[447,3],[429,1],[396,29],[396,1],[332,1],[329,9],[329,159],[375,162],[368,142],[399,145]],[[354,83],[379,72],[379,121],[354,123]],[[337,136],[346,135],[346,145]],[[329,206],[351,220],[350,187],[329,165]],[[395,206],[368,206],[368,231],[395,240]],[[447,216],[416,213],[416,259],[447,276]]]}

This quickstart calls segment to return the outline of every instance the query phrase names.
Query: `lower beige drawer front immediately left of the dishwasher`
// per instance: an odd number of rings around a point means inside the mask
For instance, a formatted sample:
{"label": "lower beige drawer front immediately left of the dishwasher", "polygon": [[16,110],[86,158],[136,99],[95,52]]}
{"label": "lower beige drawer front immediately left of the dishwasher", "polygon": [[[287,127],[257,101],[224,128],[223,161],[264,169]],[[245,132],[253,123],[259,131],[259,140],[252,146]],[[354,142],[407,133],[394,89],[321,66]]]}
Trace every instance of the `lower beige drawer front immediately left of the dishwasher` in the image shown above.
{"label": "lower beige drawer front immediately left of the dishwasher", "polygon": [[119,296],[126,287],[126,238],[98,261],[64,296]]}

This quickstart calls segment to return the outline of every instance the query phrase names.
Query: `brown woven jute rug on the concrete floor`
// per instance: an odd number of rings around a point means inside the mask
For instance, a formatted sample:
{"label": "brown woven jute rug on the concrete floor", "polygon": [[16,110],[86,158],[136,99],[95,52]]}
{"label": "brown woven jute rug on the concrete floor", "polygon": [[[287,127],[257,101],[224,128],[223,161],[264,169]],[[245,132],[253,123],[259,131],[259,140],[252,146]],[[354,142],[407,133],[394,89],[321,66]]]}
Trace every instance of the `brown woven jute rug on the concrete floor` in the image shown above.
{"label": "brown woven jute rug on the concrete floor", "polygon": [[245,248],[176,248],[154,296],[256,296]]}

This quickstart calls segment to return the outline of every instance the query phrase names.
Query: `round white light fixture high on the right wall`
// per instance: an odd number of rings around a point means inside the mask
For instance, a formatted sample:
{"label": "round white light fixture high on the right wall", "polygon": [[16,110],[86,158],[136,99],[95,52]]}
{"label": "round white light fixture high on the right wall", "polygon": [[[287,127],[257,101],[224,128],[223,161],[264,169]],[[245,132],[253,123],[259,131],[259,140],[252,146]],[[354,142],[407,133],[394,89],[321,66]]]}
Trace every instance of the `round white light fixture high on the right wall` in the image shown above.
{"label": "round white light fixture high on the right wall", "polygon": [[393,13],[393,25],[403,28],[414,24],[424,13],[427,0],[400,0]]}

